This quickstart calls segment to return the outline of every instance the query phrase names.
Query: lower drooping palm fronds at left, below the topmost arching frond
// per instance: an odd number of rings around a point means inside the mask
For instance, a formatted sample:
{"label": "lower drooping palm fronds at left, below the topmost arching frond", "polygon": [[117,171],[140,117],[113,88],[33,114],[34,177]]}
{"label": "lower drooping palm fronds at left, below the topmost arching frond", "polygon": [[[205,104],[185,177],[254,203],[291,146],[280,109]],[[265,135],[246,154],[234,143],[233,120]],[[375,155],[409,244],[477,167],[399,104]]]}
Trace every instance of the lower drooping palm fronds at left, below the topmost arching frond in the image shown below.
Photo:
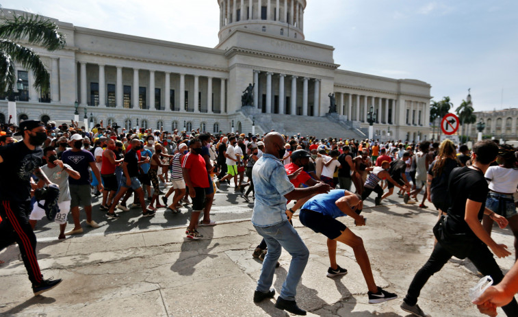
{"label": "lower drooping palm fronds at left, below the topmost arching frond", "polygon": [[34,53],[32,49],[23,47],[11,40],[0,40],[0,51],[5,55],[5,58],[0,55],[0,72],[6,70],[5,74],[0,74],[3,77],[0,80],[5,80],[5,85],[8,88],[12,88],[16,81],[13,66],[13,62],[16,61],[23,68],[30,69],[34,73],[34,88],[41,90],[43,93],[49,91],[49,72],[45,69],[40,56]]}

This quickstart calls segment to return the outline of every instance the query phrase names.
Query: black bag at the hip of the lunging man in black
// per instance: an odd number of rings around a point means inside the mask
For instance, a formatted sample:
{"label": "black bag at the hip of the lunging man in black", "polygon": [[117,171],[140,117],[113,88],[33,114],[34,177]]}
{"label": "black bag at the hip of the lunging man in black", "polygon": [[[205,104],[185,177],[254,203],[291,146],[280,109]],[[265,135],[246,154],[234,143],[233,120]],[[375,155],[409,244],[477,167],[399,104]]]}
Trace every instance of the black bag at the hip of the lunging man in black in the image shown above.
{"label": "black bag at the hip of the lunging man in black", "polygon": [[437,242],[454,257],[465,259],[476,243],[476,239],[466,233],[454,232],[448,225],[448,215],[442,215],[433,227]]}

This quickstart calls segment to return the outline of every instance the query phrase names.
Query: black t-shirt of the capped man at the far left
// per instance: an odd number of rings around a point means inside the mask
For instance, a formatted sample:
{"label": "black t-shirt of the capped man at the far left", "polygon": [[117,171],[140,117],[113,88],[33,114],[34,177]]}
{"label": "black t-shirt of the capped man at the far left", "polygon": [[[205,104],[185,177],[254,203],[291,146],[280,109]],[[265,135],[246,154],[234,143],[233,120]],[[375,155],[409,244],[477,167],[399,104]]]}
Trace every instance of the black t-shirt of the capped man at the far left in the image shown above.
{"label": "black t-shirt of the capped man at the far left", "polygon": [[0,147],[0,200],[31,200],[31,176],[42,166],[41,147],[30,150],[23,141]]}

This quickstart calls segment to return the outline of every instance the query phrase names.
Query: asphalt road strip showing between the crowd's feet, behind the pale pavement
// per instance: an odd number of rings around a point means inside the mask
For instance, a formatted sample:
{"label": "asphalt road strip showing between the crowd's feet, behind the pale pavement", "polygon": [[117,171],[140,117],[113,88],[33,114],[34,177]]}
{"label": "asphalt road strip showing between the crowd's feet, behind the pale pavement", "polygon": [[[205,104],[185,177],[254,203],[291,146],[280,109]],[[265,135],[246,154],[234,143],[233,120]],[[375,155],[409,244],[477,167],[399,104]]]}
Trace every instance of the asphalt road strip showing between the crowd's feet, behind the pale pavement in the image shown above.
{"label": "asphalt road strip showing between the crowd's feet, behind the pale pavement", "polygon": [[[167,188],[162,188],[164,192],[167,192]],[[352,190],[354,190],[354,185]],[[397,192],[397,188],[395,190]],[[251,194],[250,194],[251,195]],[[374,196],[376,193],[372,193],[369,198],[364,202],[365,207],[374,206]],[[422,195],[418,196],[422,199]],[[172,214],[166,212],[165,208],[161,208],[157,211],[153,217],[142,217],[142,209],[135,207],[129,210],[129,212],[121,212],[119,219],[108,219],[105,216],[105,212],[99,210],[102,196],[92,196],[92,218],[99,223],[99,228],[94,229],[86,224],[86,214],[81,208],[80,219],[81,226],[83,227],[83,233],[74,235],[73,237],[81,236],[92,236],[92,235],[106,235],[109,233],[128,232],[128,231],[139,231],[139,230],[160,230],[174,227],[187,227],[191,216],[192,205],[183,205],[181,207],[181,213]],[[133,201],[133,198],[128,200],[128,205]],[[172,202],[172,195],[169,197],[168,203]],[[403,203],[403,199],[399,198],[398,195],[392,194],[388,199],[383,200],[384,205]],[[435,210],[431,203],[427,203],[428,209]],[[240,192],[234,192],[233,184],[227,186],[226,183],[221,184],[221,188],[217,190],[214,196],[214,203],[211,208],[211,219],[216,220],[216,223],[232,222],[235,220],[248,220],[252,216],[253,199],[250,198],[250,203],[247,203]],[[68,214],[68,225],[66,231],[73,228],[72,215]],[[47,218],[43,218],[38,221],[36,225],[36,236],[38,241],[49,241],[56,240],[59,235],[59,226],[57,223],[49,222]]]}

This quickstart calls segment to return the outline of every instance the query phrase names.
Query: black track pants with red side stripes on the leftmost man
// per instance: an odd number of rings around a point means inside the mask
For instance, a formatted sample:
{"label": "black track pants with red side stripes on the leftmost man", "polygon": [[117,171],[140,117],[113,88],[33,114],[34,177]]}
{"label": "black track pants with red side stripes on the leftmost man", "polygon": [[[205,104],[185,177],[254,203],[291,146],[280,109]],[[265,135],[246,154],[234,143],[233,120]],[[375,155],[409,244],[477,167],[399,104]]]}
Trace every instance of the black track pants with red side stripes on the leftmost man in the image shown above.
{"label": "black track pants with red side stripes on the leftmost man", "polygon": [[36,259],[36,235],[29,224],[30,213],[30,202],[0,201],[0,251],[18,243],[29,280],[39,284],[43,277]]}

